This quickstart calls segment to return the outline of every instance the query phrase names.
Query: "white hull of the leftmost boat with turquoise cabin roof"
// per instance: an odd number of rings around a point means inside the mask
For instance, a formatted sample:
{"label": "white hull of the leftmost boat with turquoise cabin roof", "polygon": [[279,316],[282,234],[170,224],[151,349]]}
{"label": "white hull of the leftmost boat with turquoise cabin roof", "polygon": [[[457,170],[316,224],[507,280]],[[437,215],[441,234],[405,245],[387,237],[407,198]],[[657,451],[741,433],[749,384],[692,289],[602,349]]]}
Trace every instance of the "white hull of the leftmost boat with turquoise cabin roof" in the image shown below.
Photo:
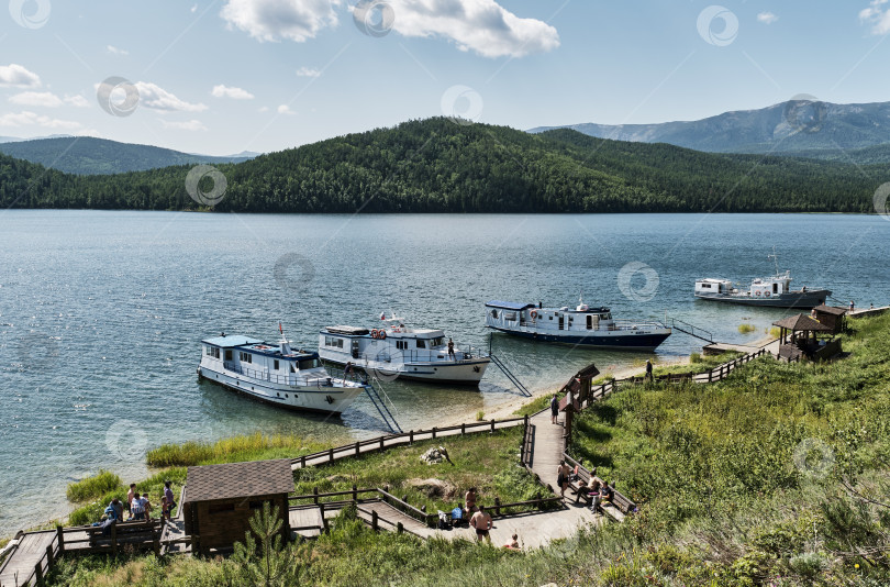
{"label": "white hull of the leftmost boat with turquoise cabin roof", "polygon": [[288,386],[245,378],[234,372],[219,372],[204,365],[198,375],[252,399],[296,411],[340,414],[365,391],[364,387]]}

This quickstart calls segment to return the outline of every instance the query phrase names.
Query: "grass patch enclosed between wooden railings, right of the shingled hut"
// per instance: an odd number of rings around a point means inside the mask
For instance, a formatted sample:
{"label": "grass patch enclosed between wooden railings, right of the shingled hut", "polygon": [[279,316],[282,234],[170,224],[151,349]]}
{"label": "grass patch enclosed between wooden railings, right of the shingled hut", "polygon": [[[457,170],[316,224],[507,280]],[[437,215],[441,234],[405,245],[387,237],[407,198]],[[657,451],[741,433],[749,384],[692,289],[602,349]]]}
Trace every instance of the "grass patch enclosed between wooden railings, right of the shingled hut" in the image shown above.
{"label": "grass patch enclosed between wooden railings, right of the shingled hut", "polygon": [[[519,465],[522,428],[504,429],[493,434],[475,433],[466,436],[448,436],[434,441],[418,442],[412,446],[389,450],[357,458],[336,461],[331,465],[307,467],[294,472],[296,490],[300,495],[345,491],[353,485],[358,488],[382,488],[408,502],[435,513],[447,511],[464,500],[464,494],[476,487],[478,503],[492,505],[494,497],[502,503],[533,499],[542,490]],[[427,465],[421,455],[431,447],[444,446],[454,465],[442,462]],[[438,479],[446,486],[445,495],[422,490],[412,481]],[[343,499],[335,498],[335,499]]]}

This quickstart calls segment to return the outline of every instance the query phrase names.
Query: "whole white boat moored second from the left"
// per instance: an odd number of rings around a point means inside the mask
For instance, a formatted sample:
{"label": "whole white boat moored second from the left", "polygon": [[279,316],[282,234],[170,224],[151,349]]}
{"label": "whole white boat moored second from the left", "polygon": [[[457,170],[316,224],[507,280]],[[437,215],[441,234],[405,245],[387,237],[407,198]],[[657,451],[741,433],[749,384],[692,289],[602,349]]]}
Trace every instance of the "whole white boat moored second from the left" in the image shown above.
{"label": "whole white boat moored second from the left", "polygon": [[352,363],[381,379],[404,378],[432,384],[478,385],[490,358],[472,348],[453,346],[441,330],[408,328],[381,315],[381,328],[327,326],[319,333],[319,356],[336,365]]}

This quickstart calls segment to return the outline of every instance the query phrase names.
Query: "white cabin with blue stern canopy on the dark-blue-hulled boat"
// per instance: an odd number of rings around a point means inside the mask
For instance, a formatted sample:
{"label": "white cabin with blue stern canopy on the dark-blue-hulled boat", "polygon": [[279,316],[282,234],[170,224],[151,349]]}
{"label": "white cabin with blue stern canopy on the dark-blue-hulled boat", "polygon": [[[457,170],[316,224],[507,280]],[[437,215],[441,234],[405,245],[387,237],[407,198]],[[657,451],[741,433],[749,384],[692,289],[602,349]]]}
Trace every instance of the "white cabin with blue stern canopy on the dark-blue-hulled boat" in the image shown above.
{"label": "white cabin with blue stern canopy on the dark-blue-hulled boat", "polygon": [[593,308],[586,303],[575,309],[542,308],[542,304],[492,300],[486,303],[486,325],[514,330],[534,326],[537,330],[609,330],[614,324],[609,308]]}

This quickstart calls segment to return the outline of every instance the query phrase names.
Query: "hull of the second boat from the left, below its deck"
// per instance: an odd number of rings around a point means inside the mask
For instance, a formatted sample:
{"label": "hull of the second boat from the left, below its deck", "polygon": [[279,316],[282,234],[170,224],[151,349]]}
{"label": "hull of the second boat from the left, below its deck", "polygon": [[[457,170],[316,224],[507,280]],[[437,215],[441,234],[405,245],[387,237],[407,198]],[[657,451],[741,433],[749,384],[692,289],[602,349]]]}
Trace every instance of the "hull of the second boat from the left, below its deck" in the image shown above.
{"label": "hull of the second boat from the left, below its deck", "polygon": [[[346,364],[342,357],[325,356],[324,353],[322,353],[322,359],[341,367]],[[490,363],[487,357],[456,362],[401,363],[396,366],[390,363],[375,361],[352,358],[349,361],[354,367],[377,375],[382,379],[405,379],[430,384],[466,386],[478,386]]]}

